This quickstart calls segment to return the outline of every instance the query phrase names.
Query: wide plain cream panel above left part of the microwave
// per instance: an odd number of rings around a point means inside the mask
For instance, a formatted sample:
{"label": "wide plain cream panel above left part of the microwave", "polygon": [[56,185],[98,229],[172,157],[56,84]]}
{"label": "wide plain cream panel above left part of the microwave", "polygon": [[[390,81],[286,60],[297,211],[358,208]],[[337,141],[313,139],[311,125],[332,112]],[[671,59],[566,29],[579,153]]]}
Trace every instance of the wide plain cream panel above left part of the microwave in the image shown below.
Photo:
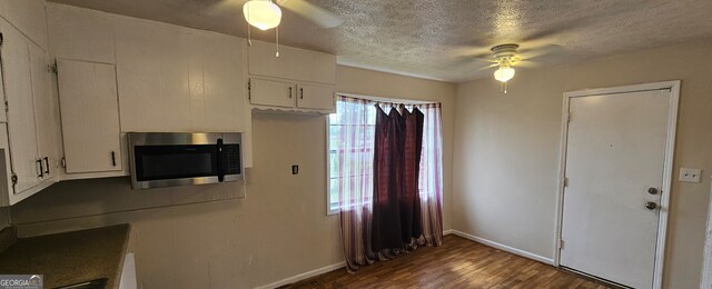
{"label": "wide plain cream panel above left part of the microwave", "polygon": [[191,131],[190,87],[202,80],[188,73],[182,29],[120,18],[115,32],[121,130]]}

